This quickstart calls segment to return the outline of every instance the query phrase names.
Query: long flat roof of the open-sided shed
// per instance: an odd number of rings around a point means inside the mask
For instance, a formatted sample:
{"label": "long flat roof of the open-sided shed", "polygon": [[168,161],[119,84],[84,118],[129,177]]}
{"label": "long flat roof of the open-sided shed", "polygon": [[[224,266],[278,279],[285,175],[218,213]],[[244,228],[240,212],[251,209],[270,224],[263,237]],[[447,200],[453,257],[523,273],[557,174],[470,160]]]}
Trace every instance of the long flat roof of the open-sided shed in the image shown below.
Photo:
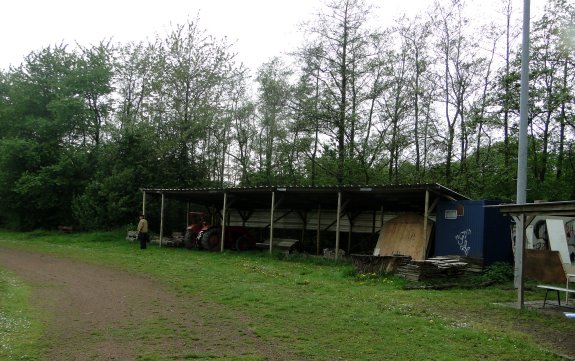
{"label": "long flat roof of the open-sided shed", "polygon": [[191,188],[165,189],[143,188],[147,194],[161,194],[166,198],[221,209],[224,194],[227,207],[235,209],[268,209],[271,194],[275,194],[278,208],[310,210],[336,209],[338,194],[347,211],[383,210],[393,212],[425,213],[426,194],[429,201],[436,199],[469,199],[440,184],[415,185],[370,185],[370,186],[275,186],[275,187],[236,187],[236,188]]}

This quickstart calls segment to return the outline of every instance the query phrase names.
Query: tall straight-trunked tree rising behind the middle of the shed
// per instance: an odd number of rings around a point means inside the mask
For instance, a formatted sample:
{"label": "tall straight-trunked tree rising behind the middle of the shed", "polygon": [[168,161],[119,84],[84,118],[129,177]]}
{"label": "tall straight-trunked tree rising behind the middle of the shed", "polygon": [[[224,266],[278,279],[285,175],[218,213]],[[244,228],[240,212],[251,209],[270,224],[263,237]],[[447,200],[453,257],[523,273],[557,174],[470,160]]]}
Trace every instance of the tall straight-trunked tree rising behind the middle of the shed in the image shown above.
{"label": "tall straight-trunked tree rising behind the middle of the shed", "polygon": [[369,7],[361,0],[334,0],[307,28],[310,51],[303,53],[319,57],[317,73],[309,75],[317,77],[322,98],[318,113],[326,123],[322,128],[329,130],[326,135],[336,149],[338,184],[349,179],[345,163],[353,155],[356,130],[361,128],[358,122],[364,120],[359,114],[364,99],[358,92],[367,74],[364,66],[369,34],[363,28],[369,13]]}

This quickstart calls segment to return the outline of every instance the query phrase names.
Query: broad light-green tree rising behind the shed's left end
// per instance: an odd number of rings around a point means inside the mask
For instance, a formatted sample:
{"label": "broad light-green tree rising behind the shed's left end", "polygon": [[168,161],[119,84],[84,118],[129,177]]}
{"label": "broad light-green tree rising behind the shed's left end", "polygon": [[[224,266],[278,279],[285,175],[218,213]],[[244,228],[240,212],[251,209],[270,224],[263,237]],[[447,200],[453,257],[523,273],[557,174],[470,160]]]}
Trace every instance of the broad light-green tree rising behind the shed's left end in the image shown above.
{"label": "broad light-green tree rising behind the shed's left end", "polygon": [[173,164],[173,179],[181,186],[221,178],[220,141],[227,139],[224,123],[230,119],[220,115],[230,105],[226,95],[237,74],[229,47],[197,19],[175,26],[155,46],[151,117],[162,139],[161,158]]}

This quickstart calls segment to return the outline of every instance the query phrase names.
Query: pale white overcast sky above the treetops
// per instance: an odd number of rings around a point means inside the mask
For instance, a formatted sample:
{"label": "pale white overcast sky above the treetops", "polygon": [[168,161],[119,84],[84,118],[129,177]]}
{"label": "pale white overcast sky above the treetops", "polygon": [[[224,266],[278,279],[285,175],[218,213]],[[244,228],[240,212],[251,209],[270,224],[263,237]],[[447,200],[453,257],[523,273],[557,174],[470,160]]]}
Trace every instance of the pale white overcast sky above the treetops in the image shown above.
{"label": "pale white overcast sky above the treetops", "polygon": [[[521,8],[523,0],[516,1]],[[378,20],[386,27],[394,17],[419,11],[432,1],[372,3],[380,6]],[[227,36],[236,44],[233,51],[239,60],[254,69],[301,43],[298,25],[311,19],[321,4],[321,0],[3,0],[0,68],[17,66],[31,51],[53,44],[153,39],[166,34],[170,24],[184,24],[199,13],[200,28]]]}

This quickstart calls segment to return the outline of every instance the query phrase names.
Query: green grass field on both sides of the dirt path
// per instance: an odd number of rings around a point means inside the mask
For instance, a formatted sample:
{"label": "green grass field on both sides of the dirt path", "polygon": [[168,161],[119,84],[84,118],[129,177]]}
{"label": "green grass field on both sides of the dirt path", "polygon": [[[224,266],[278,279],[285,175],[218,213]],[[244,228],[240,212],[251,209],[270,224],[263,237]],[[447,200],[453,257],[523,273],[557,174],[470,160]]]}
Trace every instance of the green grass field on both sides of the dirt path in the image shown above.
{"label": "green grass field on both sides of the dirt path", "polygon": [[[140,251],[124,236],[0,232],[0,245],[149,274],[175,292],[236,310],[259,337],[288,344],[304,359],[560,360],[559,354],[574,354],[553,341],[575,335],[575,322],[501,305],[516,298],[511,283],[405,290],[401,278],[356,274],[345,261],[157,245]],[[33,359],[26,350],[41,349],[41,325],[28,305],[28,288],[0,270],[0,291],[0,317],[14,320],[0,328],[0,358],[10,352]],[[526,297],[543,293],[528,287]]]}

